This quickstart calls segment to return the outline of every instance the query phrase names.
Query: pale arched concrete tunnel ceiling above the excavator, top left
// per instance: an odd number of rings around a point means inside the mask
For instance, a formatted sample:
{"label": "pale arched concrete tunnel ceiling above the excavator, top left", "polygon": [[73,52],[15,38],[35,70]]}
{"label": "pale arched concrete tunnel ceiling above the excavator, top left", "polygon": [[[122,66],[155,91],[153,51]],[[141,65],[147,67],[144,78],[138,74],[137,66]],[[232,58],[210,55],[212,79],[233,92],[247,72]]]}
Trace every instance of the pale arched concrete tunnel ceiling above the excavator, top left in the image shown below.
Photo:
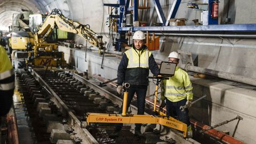
{"label": "pale arched concrete tunnel ceiling above the excavator, top left", "polygon": [[0,0],[0,30],[9,30],[12,19],[21,13],[21,9],[31,10],[33,13],[51,12],[52,9],[69,11],[67,0]]}

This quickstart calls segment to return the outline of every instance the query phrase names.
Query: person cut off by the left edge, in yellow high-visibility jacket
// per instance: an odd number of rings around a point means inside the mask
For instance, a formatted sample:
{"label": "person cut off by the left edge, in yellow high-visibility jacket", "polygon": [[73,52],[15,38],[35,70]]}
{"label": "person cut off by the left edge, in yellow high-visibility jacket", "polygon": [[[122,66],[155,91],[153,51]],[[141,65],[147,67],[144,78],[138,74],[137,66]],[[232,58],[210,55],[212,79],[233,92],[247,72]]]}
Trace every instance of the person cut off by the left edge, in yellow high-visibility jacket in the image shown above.
{"label": "person cut off by the left edge, in yellow high-visibility jacket", "polygon": [[11,61],[0,45],[0,116],[5,116],[12,106],[15,76]]}

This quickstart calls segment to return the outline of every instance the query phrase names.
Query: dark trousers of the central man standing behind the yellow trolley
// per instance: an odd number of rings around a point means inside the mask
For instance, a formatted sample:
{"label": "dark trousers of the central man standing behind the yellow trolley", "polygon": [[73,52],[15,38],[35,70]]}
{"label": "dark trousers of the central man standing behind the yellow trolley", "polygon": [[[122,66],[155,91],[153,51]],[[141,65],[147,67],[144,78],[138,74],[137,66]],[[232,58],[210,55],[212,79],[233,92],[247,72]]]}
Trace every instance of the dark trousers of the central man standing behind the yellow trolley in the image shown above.
{"label": "dark trousers of the central man standing behind the yellow trolley", "polygon": [[[130,103],[132,101],[132,98],[134,96],[134,93],[136,92],[137,95],[137,107],[138,107],[138,115],[144,115],[145,111],[145,98],[147,93],[148,86],[131,86],[130,89],[127,90],[128,92],[128,98],[127,98],[127,109],[130,106]],[[119,114],[122,114],[123,111],[123,105],[121,106]],[[117,123],[116,124],[116,130],[121,130],[123,124]],[[135,130],[140,131],[141,124],[135,124]]]}

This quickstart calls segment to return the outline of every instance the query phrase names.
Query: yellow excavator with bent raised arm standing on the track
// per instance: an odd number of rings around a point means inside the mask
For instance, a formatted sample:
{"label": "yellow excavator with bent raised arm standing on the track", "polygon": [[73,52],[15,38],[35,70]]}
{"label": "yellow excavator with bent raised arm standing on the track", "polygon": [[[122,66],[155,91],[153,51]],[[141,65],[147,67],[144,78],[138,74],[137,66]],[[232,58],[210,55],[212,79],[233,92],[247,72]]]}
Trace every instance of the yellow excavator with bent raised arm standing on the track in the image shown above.
{"label": "yellow excavator with bent raised arm standing on the track", "polygon": [[14,65],[19,63],[15,61],[26,60],[34,67],[65,66],[64,54],[57,50],[58,30],[82,36],[89,43],[99,47],[99,50],[104,49],[102,36],[92,31],[89,25],[68,19],[59,9],[52,10],[49,15],[30,14],[29,28],[31,32],[12,33],[11,47],[13,50],[20,50],[13,54]]}

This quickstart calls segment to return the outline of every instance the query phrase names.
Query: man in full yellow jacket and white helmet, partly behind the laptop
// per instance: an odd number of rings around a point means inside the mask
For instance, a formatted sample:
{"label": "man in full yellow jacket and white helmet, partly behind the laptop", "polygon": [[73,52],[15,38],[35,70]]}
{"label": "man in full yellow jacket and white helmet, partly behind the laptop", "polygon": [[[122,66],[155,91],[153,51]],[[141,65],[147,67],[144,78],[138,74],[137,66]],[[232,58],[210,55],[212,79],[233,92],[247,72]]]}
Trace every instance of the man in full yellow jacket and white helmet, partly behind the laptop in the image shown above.
{"label": "man in full yellow jacket and white helmet, partly behind the laptop", "polygon": [[[173,63],[179,63],[180,57],[177,52],[171,52],[169,54],[169,61]],[[178,66],[175,68],[174,76],[165,79],[161,83],[161,106],[166,105],[166,114],[177,118],[179,121],[187,124],[187,137],[193,136],[191,125],[189,122],[188,108],[191,106],[191,100],[193,99],[193,87],[190,82],[188,73]],[[166,102],[165,102],[166,101]],[[180,106],[187,105],[184,111],[180,110]]]}

